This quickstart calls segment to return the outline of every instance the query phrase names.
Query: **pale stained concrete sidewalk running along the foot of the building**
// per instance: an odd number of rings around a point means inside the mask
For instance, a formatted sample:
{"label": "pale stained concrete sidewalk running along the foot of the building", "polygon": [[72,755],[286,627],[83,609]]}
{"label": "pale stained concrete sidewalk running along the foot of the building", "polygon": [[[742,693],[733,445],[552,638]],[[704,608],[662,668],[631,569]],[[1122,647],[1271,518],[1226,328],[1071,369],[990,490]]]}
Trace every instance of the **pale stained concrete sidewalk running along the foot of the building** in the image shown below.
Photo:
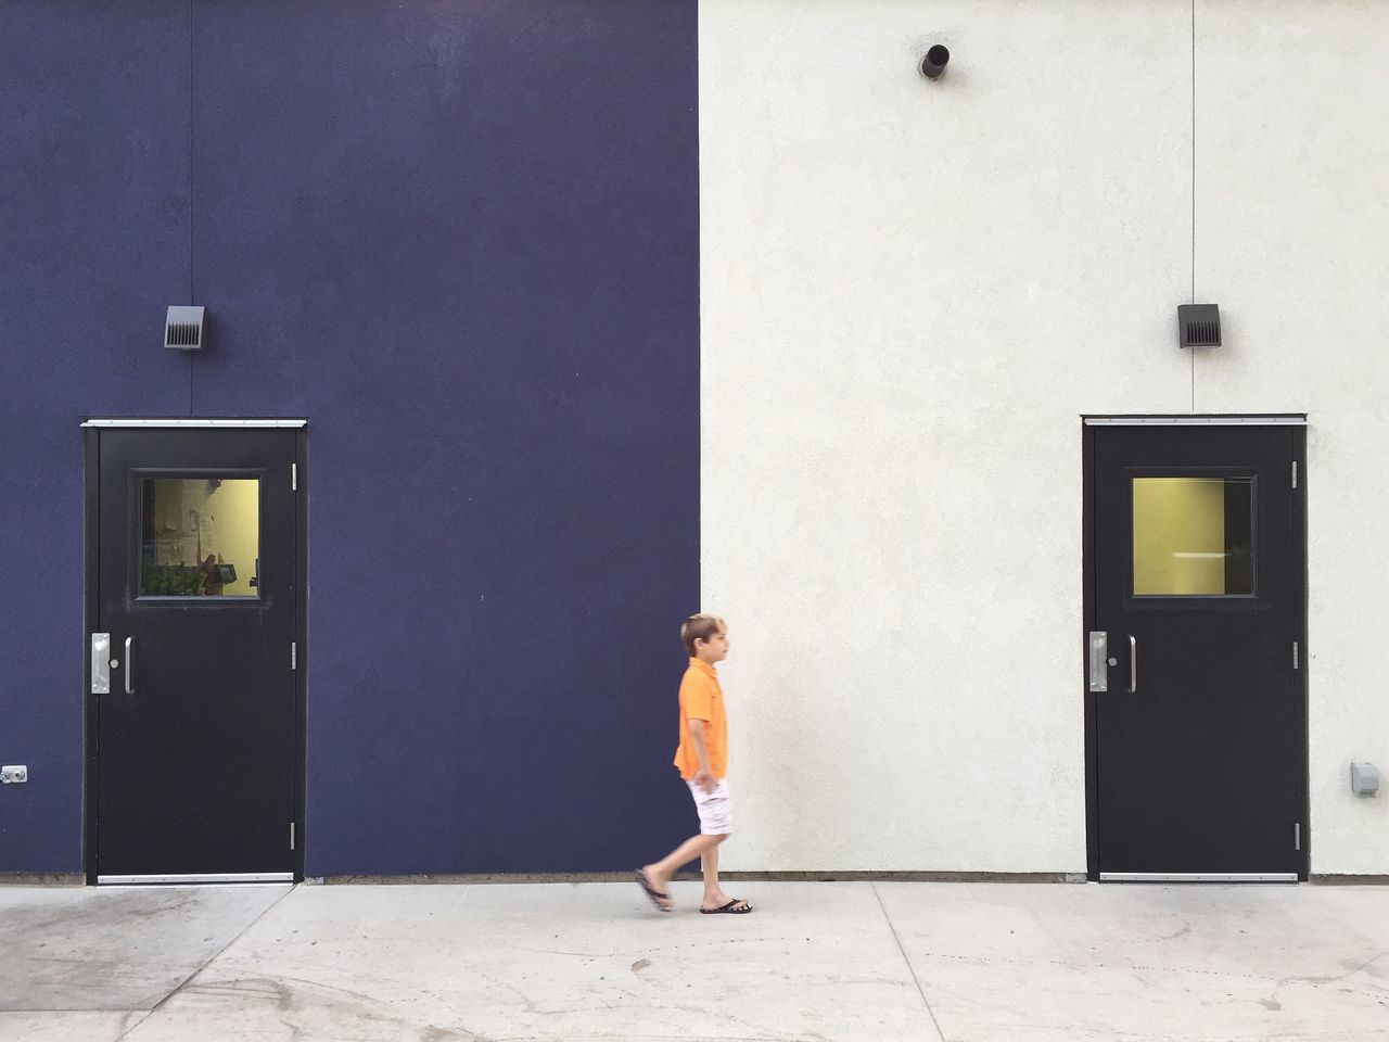
{"label": "pale stained concrete sidewalk running along the foot of the building", "polygon": [[0,1039],[1389,1039],[1389,888],[729,891],[0,888]]}

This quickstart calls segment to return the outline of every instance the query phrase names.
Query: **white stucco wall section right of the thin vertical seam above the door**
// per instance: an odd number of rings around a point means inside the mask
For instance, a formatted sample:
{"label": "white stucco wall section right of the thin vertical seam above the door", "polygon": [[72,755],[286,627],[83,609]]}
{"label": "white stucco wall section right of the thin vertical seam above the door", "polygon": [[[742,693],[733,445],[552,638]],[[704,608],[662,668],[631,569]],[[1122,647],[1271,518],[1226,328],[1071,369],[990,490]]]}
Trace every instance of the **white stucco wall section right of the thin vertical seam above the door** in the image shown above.
{"label": "white stucco wall section right of the thin vertical seam above the door", "polygon": [[1203,411],[1308,429],[1313,871],[1389,873],[1389,7],[1203,3],[1196,14],[1196,290],[1228,346]]}

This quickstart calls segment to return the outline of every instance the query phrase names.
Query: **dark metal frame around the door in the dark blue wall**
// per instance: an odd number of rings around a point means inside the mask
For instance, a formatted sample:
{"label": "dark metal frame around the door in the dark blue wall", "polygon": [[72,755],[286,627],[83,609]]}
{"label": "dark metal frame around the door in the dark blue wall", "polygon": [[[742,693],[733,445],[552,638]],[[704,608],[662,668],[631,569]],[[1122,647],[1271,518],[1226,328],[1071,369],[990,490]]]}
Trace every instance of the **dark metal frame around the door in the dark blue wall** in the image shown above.
{"label": "dark metal frame around the door in the dark blue wall", "polygon": [[[88,418],[82,424],[82,871],[89,886],[97,882],[97,695],[92,693],[92,632],[100,614],[97,600],[99,532],[101,521],[101,431],[111,429],[294,429],[294,882],[304,879],[306,725],[308,704],[308,421],[301,418]],[[172,881],[172,879],[171,879]],[[151,881],[153,882],[153,881]],[[231,882],[231,879],[229,879]]]}

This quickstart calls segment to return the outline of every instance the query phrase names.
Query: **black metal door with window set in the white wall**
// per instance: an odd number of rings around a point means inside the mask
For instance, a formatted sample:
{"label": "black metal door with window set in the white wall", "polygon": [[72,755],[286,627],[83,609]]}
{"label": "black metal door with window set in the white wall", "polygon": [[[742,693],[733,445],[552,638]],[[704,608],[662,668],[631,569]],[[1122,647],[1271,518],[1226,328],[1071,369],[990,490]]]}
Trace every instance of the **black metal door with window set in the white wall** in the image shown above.
{"label": "black metal door with window set in the white wall", "polygon": [[1306,878],[1304,428],[1086,440],[1092,875]]}

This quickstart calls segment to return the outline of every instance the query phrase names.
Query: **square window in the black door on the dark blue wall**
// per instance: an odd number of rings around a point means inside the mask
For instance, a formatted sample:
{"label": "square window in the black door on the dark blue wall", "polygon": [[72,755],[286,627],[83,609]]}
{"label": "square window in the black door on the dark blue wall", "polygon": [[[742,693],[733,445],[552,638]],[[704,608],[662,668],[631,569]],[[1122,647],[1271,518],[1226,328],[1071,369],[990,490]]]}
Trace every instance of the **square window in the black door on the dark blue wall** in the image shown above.
{"label": "square window in the black door on the dark blue wall", "polygon": [[258,478],[140,479],[140,596],[260,596]]}

